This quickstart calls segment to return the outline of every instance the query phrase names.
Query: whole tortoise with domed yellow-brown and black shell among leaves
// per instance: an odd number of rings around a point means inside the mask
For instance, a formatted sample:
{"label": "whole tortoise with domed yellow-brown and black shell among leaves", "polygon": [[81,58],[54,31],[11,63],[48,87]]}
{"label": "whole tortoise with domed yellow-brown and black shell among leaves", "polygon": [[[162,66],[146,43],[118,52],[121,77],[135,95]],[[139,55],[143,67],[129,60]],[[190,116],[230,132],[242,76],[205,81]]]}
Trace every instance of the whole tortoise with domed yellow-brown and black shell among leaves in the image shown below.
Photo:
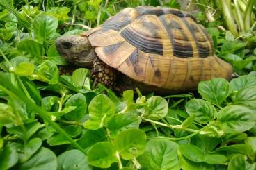
{"label": "whole tortoise with domed yellow-brown and black shell among leaves", "polygon": [[232,78],[205,28],[188,12],[167,7],[125,8],[81,35],[59,37],[56,49],[92,68],[95,84],[116,90],[187,92],[202,80]]}

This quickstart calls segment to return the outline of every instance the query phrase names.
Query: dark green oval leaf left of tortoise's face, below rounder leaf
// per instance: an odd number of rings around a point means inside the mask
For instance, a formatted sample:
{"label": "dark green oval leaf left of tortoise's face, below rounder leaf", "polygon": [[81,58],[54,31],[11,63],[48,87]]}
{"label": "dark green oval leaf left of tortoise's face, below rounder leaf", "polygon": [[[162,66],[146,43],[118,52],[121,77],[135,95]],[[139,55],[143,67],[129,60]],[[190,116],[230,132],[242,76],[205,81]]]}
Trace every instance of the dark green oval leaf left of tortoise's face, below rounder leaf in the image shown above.
{"label": "dark green oval leaf left of tortoise's face, below rounder leaf", "polygon": [[38,58],[45,55],[45,49],[42,44],[39,44],[34,40],[23,40],[22,42],[19,42],[19,44],[17,44],[17,49]]}

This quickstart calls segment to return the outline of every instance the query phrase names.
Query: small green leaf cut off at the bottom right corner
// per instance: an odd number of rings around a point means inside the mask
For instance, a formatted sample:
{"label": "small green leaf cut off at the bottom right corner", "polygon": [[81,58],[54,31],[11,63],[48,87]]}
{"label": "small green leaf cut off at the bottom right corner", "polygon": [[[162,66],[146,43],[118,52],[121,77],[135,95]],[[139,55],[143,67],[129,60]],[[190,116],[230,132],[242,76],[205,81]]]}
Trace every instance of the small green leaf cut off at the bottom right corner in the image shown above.
{"label": "small green leaf cut off at the bottom right corner", "polygon": [[246,155],[242,155],[242,154],[233,155],[230,160],[230,163],[228,164],[227,169],[228,170],[241,170],[241,169],[255,170],[256,163],[254,162],[253,164],[250,164],[246,160],[247,160]]}

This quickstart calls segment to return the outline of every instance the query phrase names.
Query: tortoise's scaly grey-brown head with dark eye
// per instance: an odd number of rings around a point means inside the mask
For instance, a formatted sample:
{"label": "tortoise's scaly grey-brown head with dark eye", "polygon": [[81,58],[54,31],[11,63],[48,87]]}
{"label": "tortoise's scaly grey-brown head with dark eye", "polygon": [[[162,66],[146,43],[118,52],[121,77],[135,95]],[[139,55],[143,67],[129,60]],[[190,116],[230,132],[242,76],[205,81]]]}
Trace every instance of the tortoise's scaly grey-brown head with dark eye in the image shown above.
{"label": "tortoise's scaly grey-brown head with dark eye", "polygon": [[62,36],[56,40],[55,44],[58,53],[65,60],[81,67],[93,67],[95,51],[90,45],[88,37],[82,35]]}

